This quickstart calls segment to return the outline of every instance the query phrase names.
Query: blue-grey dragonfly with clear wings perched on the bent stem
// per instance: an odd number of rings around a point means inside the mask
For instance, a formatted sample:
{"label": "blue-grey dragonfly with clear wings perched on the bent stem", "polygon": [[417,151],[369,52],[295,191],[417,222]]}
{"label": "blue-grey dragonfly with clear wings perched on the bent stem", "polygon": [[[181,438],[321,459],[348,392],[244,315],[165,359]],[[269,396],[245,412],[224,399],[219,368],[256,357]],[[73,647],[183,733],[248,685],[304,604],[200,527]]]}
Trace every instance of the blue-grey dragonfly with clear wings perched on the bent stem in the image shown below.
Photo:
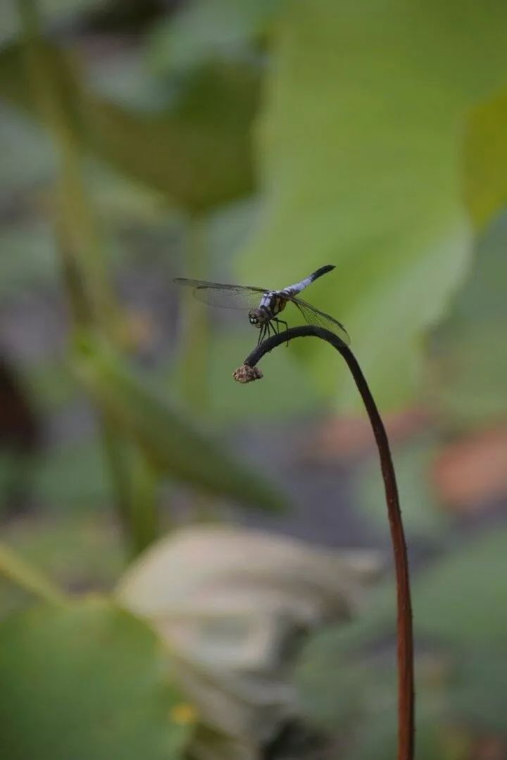
{"label": "blue-grey dragonfly with clear wings perched on the bent stem", "polygon": [[299,283],[294,283],[281,290],[249,285],[208,283],[205,280],[186,280],[183,277],[176,277],[173,282],[184,287],[192,287],[195,298],[208,303],[210,306],[220,306],[225,309],[249,309],[250,325],[259,330],[257,345],[265,337],[269,337],[271,331],[273,334],[279,333],[280,325],[285,325],[287,330],[287,322],[280,319],[279,315],[284,311],[287,303],[292,303],[296,309],[299,309],[308,325],[316,325],[330,330],[348,346],[350,337],[341,322],[324,312],[320,312],[315,309],[315,306],[299,298],[299,293],[302,290],[315,282],[318,277],[322,277],[323,274],[327,274],[333,269],[332,264],[327,264],[309,274],[304,280],[300,280]]}

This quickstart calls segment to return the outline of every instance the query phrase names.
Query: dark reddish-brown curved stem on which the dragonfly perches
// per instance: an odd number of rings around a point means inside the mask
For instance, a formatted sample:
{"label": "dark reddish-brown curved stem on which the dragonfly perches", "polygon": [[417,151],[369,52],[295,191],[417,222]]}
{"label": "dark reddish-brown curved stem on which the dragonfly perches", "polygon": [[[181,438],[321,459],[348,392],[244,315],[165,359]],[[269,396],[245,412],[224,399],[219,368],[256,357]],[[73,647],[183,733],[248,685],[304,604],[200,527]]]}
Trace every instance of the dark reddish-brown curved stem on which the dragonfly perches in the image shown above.
{"label": "dark reddish-brown curved stem on which the dragonfly perches", "polygon": [[344,357],[356,383],[357,390],[363,399],[363,404],[372,425],[373,435],[375,435],[375,442],[379,449],[389,527],[391,529],[391,542],[395,556],[398,600],[398,760],[412,760],[414,758],[414,634],[410,601],[410,575],[407,544],[405,542],[403,522],[401,521],[398,486],[396,485],[395,468],[392,464],[387,433],[356,357],[337,335],[328,330],[312,325],[290,328],[286,332],[273,335],[264,340],[260,346],[247,356],[244,364],[249,367],[255,367],[265,353],[268,353],[277,346],[287,344],[288,340],[296,337],[319,337],[331,344]]}

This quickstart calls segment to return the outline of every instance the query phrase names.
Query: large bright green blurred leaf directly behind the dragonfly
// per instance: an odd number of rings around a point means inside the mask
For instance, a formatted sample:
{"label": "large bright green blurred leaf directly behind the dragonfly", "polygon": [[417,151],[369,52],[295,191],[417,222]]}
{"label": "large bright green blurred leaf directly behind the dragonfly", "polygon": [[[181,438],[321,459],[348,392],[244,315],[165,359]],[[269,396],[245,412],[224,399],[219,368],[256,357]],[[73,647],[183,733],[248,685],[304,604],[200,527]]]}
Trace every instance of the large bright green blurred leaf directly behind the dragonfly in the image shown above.
{"label": "large bright green blurred leaf directly behind the dragonfly", "polygon": [[[349,328],[382,407],[413,396],[417,341],[467,266],[459,146],[468,109],[505,83],[506,21],[497,0],[317,0],[277,26],[258,135],[268,211],[237,270],[282,287],[337,264],[312,298]],[[316,382],[356,404],[309,343]]]}

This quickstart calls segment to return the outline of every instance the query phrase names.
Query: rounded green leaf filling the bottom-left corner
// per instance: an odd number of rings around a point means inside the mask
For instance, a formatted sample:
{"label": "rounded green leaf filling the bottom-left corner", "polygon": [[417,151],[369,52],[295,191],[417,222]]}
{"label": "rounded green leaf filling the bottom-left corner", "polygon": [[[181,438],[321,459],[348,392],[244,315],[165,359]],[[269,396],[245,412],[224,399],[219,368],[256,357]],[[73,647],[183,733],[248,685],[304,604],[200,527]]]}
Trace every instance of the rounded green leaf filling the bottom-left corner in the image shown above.
{"label": "rounded green leaf filling the bottom-left corner", "polygon": [[0,628],[0,748],[10,760],[180,758],[189,727],[157,638],[106,600],[43,606]]}

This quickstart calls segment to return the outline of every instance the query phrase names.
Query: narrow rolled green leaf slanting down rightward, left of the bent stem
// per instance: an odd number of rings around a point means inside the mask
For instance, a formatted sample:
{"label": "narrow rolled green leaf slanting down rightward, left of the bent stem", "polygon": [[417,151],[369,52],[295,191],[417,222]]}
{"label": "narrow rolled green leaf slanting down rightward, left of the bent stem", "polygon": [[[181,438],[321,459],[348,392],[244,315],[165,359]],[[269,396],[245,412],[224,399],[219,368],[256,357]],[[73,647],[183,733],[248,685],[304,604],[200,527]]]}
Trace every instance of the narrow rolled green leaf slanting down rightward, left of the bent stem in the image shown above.
{"label": "narrow rolled green leaf slanting down rightward, left of the bent stem", "polygon": [[[119,428],[132,435],[161,473],[257,508],[277,509],[284,499],[261,474],[222,451],[169,394],[138,377],[112,351],[83,344],[75,366],[84,387]],[[204,368],[196,368],[204,372]]]}

